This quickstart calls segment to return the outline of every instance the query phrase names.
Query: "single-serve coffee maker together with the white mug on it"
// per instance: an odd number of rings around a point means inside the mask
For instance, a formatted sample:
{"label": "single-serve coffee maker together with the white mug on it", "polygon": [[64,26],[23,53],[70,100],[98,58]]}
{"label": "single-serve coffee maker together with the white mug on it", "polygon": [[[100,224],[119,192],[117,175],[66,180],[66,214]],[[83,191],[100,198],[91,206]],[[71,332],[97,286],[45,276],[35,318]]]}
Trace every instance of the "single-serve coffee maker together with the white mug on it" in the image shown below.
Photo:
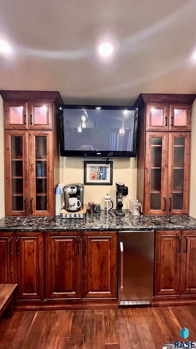
{"label": "single-serve coffee maker together with the white mug on it", "polygon": [[[63,192],[64,192],[64,198],[65,198],[66,211],[75,213],[83,210],[84,184],[82,183],[66,184],[65,187],[63,188]],[[78,205],[78,202],[80,202],[79,205]]]}

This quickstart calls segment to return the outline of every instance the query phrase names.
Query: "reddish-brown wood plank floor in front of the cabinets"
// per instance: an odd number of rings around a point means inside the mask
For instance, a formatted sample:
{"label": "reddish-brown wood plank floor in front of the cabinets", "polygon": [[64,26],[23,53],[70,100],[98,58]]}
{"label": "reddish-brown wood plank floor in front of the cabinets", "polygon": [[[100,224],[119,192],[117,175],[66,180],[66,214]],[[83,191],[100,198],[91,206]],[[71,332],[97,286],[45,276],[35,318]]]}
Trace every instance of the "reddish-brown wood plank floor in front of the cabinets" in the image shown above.
{"label": "reddish-brown wood plank floor in front of the cabinets", "polygon": [[0,319],[1,349],[161,349],[196,340],[196,306],[15,312]]}

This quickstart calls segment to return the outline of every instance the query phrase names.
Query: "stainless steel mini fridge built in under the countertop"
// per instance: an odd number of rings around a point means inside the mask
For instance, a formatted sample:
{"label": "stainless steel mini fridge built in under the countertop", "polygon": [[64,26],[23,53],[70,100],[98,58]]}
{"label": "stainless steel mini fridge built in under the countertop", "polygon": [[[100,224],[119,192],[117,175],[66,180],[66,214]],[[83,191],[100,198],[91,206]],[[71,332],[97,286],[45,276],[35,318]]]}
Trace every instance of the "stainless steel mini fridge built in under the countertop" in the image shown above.
{"label": "stainless steel mini fridge built in under the countertop", "polygon": [[118,305],[151,304],[154,231],[119,232]]}

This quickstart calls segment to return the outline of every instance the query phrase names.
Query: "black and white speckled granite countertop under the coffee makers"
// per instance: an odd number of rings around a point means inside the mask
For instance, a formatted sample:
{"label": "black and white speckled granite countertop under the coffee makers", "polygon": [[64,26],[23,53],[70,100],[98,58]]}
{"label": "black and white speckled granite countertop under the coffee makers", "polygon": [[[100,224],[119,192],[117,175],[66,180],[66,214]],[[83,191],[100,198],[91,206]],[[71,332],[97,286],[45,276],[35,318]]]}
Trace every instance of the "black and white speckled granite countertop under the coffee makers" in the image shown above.
{"label": "black and white speckled granite countertop under the coffee makers", "polygon": [[5,217],[0,220],[0,231],[64,231],[64,230],[194,230],[196,218],[190,216],[138,216],[124,210],[120,217],[114,211],[86,213],[85,219],[54,217]]}

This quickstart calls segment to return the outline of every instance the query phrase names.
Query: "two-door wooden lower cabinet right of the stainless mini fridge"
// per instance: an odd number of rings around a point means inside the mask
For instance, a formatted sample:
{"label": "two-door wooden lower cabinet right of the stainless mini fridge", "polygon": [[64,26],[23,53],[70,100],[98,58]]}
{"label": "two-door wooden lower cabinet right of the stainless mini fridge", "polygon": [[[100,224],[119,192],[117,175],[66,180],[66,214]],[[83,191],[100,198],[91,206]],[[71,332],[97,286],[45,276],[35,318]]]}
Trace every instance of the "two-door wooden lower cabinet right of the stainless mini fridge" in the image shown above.
{"label": "two-door wooden lower cabinet right of the stainless mini fridge", "polygon": [[196,295],[196,230],[156,231],[154,296]]}

